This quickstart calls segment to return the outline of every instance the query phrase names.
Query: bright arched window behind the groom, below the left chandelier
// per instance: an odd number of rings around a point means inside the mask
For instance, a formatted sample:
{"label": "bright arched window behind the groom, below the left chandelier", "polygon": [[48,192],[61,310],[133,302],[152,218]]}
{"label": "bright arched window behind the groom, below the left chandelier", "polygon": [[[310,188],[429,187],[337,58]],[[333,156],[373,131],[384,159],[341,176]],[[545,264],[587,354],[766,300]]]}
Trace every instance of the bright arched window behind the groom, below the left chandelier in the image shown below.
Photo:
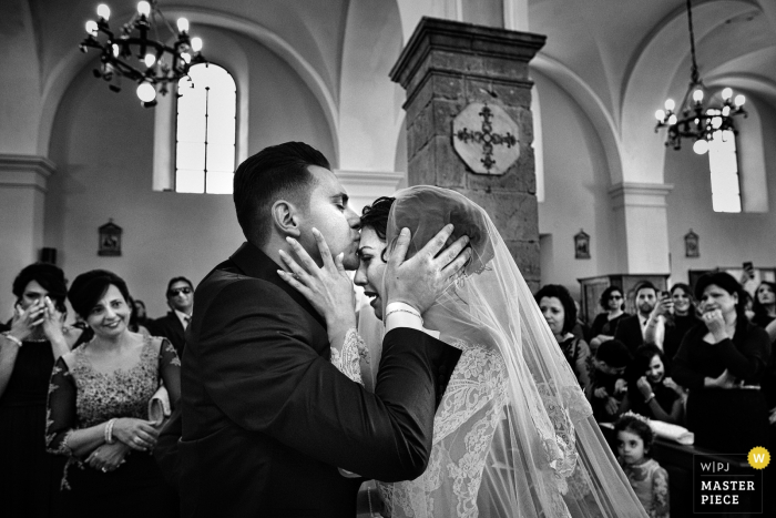
{"label": "bright arched window behind the groom, below the left chandelier", "polygon": [[178,82],[175,192],[232,194],[237,89],[213,63],[195,64]]}

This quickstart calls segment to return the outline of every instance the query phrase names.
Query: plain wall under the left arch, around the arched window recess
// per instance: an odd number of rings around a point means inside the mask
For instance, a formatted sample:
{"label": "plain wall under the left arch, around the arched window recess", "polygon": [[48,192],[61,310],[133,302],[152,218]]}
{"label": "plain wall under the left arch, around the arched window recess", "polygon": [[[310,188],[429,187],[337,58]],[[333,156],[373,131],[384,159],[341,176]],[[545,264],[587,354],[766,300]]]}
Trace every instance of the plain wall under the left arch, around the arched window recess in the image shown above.
{"label": "plain wall under the left arch, around the arched window recess", "polygon": [[[298,75],[265,48],[233,38],[249,57],[248,154],[300,140],[333,158],[324,113]],[[90,69],[70,85],[54,122],[44,246],[59,250],[71,281],[91,268],[114,271],[160,316],[170,277],[198,283],[244,238],[232,196],[152,191],[153,112],[131,84],[114,94]],[[109,217],[124,230],[121,257],[96,255],[98,227]]]}

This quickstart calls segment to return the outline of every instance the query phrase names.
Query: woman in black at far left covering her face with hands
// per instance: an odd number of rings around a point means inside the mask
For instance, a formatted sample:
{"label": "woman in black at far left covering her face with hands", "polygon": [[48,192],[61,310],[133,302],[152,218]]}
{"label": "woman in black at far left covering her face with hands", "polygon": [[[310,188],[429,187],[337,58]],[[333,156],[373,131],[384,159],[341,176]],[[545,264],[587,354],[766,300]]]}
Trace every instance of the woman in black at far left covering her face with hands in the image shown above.
{"label": "woman in black at far left covering her face with hands", "polygon": [[41,438],[51,369],[81,333],[63,325],[67,294],[64,273],[52,264],[27,266],[13,281],[13,318],[0,335],[2,516],[55,514],[63,463],[47,455]]}

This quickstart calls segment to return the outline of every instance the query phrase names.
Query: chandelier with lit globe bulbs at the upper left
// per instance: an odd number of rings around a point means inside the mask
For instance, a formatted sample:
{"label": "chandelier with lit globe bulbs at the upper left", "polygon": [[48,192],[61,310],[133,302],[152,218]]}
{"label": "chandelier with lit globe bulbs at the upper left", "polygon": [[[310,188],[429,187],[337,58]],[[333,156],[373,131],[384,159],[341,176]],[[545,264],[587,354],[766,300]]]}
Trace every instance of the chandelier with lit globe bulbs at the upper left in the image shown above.
{"label": "chandelier with lit globe bulbs at the upper left", "polygon": [[[156,104],[156,93],[169,92],[169,83],[188,75],[193,64],[205,62],[200,53],[202,39],[188,35],[188,20],[178,18],[177,31],[173,30],[156,0],[139,2],[137,12],[122,26],[119,34],[108,24],[110,16],[108,6],[98,6],[99,20],[86,22],[88,35],[80,49],[82,52],[90,48],[100,51],[101,64],[94,69],[94,77],[109,81],[112,91],[121,91],[121,78],[139,83],[137,97],[145,108]],[[172,45],[163,43],[159,37],[162,24],[176,34]]]}

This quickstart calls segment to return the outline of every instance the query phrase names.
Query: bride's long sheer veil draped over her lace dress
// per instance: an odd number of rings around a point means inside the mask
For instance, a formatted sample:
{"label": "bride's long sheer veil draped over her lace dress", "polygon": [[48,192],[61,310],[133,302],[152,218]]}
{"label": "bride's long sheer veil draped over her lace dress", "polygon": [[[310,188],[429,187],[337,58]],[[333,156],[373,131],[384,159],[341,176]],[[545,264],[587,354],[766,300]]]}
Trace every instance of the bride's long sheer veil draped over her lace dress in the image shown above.
{"label": "bride's long sheer veil draped over her lace dress", "polygon": [[423,318],[462,354],[428,469],[380,486],[391,516],[645,517],[488,214],[457,192],[410,187],[396,196],[386,238],[410,228],[409,257],[447,223],[451,240],[470,237],[472,260]]}

